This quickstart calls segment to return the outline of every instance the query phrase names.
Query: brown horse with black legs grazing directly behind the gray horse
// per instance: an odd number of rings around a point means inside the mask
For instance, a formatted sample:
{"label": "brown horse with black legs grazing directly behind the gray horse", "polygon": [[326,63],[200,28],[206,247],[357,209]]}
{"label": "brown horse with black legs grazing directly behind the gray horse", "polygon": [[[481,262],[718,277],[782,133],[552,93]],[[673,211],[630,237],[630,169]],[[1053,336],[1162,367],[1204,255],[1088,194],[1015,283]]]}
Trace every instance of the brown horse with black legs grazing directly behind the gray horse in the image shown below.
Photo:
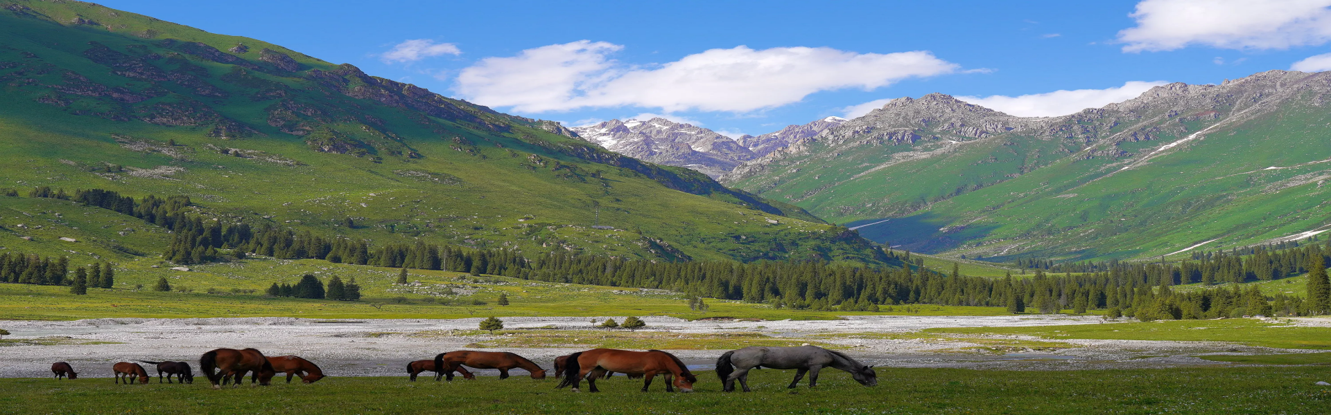
{"label": "brown horse with black legs grazing directly behind the gray horse", "polygon": [[[688,371],[679,358],[660,350],[631,351],[615,348],[592,348],[568,355],[568,367],[564,368],[564,380],[558,387],[572,384],[578,390],[578,382],[587,378],[587,384],[592,392],[596,390],[596,379],[606,371],[616,371],[628,375],[643,375],[643,391],[652,384],[656,375],[666,376],[666,391],[673,392],[671,384],[677,386],[683,392],[692,392],[697,378]],[[673,378],[673,379],[672,379]]]}

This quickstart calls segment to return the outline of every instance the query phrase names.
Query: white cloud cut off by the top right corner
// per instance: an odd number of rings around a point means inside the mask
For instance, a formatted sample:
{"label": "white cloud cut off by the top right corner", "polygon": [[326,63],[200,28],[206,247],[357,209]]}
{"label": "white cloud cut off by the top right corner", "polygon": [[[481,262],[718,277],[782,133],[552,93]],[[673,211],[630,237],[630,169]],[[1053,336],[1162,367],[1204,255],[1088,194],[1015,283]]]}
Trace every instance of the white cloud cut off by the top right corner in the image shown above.
{"label": "white cloud cut off by the top right corner", "polygon": [[1187,45],[1286,49],[1331,40],[1331,0],[1145,0],[1137,27],[1118,32],[1123,52]]}

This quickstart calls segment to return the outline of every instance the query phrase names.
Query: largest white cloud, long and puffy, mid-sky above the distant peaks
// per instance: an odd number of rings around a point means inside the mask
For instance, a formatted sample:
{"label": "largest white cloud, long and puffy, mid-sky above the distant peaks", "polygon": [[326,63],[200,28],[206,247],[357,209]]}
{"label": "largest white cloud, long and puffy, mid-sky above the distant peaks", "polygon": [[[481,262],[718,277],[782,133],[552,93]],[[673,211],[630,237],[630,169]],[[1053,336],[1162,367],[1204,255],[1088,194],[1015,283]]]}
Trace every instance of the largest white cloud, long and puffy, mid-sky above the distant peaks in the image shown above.
{"label": "largest white cloud, long and puffy, mid-sky above the distant peaks", "polygon": [[516,112],[643,106],[751,112],[843,88],[874,89],[908,77],[952,73],[930,52],[855,53],[832,48],[711,49],[663,65],[626,67],[623,47],[587,40],[488,57],[458,76],[467,100]]}

